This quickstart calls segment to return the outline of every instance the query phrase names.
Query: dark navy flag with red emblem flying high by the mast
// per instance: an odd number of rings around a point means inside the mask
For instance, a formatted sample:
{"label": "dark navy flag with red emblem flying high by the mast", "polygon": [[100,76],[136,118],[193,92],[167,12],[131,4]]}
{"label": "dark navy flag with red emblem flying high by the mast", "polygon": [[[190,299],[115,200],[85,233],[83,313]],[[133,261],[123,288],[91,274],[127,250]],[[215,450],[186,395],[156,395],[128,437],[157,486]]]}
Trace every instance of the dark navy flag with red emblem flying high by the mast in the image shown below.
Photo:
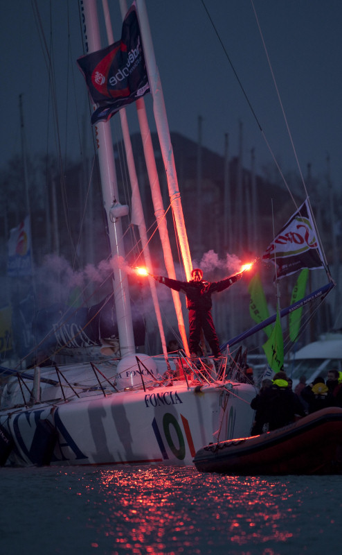
{"label": "dark navy flag with red emblem flying high by the mast", "polygon": [[135,6],[125,16],[121,40],[77,62],[98,105],[91,123],[108,121],[120,108],[150,92]]}

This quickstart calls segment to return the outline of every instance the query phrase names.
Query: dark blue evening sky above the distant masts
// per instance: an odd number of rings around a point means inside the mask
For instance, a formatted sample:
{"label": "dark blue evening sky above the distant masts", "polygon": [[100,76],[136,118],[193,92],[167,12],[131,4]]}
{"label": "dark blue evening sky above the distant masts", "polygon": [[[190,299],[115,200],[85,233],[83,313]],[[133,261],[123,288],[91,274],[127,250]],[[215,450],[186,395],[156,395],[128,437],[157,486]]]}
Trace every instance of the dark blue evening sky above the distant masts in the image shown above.
{"label": "dark blue evening sky above the distant masts", "polygon": [[[113,5],[114,38],[118,40],[121,33],[118,0],[109,3]],[[205,0],[205,3],[273,154],[283,171],[296,169],[296,157],[253,4],[250,0]],[[244,164],[249,167],[253,147],[258,166],[270,164],[271,154],[201,0],[146,0],[146,5],[170,130],[197,140],[200,115],[204,146],[223,153],[224,134],[228,133],[230,153],[236,155],[241,120]],[[80,135],[89,120],[87,117],[86,121],[86,88],[75,65],[76,58],[83,53],[78,2],[37,0],[37,6],[46,41],[53,44],[62,153],[75,158],[80,152]],[[342,2],[254,0],[254,6],[303,174],[306,176],[307,162],[311,162],[314,176],[323,176],[330,155],[332,179],[340,187]],[[44,152],[47,144],[53,148],[55,124],[31,2],[3,3],[0,26],[3,167],[21,149],[19,94],[24,94],[28,153]],[[149,95],[145,101],[150,109]],[[127,108],[127,114],[135,132],[138,124],[134,105]],[[112,122],[115,139],[118,117]],[[151,128],[154,130],[153,124]]]}

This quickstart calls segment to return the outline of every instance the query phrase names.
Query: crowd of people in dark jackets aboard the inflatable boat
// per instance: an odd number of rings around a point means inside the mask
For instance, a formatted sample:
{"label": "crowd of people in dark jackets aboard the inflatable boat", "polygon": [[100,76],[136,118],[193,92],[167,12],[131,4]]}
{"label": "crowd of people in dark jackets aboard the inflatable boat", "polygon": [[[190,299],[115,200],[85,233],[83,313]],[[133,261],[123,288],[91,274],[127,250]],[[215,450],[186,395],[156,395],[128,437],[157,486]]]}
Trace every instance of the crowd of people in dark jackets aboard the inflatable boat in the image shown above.
{"label": "crowd of people in dark jackets aboard the inflatable boat", "polygon": [[262,381],[258,395],[251,401],[255,420],[251,435],[257,436],[296,422],[299,418],[327,407],[342,408],[342,376],[332,369],[327,379],[318,376],[312,384],[300,377],[295,390],[285,372],[278,372],[274,379]]}

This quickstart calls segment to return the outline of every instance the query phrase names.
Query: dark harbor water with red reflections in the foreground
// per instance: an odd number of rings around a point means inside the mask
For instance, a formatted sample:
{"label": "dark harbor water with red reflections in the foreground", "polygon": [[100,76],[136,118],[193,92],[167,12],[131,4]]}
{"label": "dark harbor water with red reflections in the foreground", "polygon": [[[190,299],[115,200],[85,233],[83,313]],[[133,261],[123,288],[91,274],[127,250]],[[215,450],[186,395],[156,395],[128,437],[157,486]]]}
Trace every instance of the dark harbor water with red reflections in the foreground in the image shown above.
{"label": "dark harbor water with red reflections in the foreground", "polygon": [[1,468],[6,555],[339,553],[342,477]]}

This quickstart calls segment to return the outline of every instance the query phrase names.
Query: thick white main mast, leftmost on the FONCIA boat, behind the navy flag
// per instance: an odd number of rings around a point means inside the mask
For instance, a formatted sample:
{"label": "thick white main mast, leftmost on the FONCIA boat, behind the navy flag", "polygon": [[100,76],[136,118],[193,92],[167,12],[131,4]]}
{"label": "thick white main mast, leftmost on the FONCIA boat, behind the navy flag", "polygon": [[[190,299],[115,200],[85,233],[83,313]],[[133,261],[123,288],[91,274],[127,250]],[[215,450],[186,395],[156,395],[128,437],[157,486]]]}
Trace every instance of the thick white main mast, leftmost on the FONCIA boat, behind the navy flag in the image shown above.
{"label": "thick white main mast, leftmost on the FONCIA boat, behind the navy flag", "polygon": [[[96,0],[80,0],[80,10],[84,17],[84,41],[87,52],[101,49],[100,31],[98,25],[98,14],[96,12]],[[96,126],[98,160],[100,164],[100,176],[102,185],[102,196],[107,215],[109,241],[111,255],[125,257],[123,249],[123,229],[120,217],[112,217],[111,209],[120,205],[118,197],[118,184],[116,181],[116,170],[114,164],[113,142],[111,139],[111,128],[109,122],[100,122]],[[114,267],[114,302],[116,307],[116,318],[118,322],[118,334],[120,341],[120,354],[122,357],[135,353],[134,333],[132,324],[132,312],[129,304],[129,289],[127,274],[122,268]]]}

